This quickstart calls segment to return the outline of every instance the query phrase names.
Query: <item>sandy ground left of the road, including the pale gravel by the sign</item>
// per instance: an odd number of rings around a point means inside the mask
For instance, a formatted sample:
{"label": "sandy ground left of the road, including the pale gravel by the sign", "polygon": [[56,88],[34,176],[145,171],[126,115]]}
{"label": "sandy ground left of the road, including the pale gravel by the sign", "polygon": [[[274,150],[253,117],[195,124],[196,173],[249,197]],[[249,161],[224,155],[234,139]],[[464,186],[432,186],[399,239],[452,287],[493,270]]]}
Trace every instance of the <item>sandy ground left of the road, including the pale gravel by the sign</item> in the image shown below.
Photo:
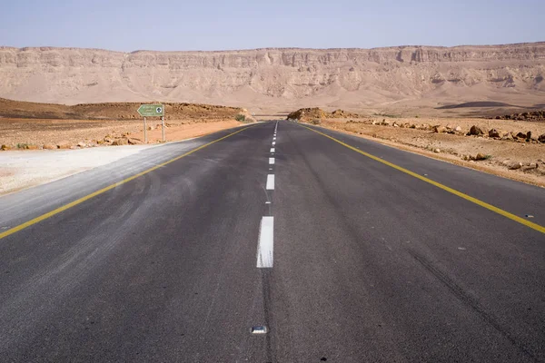
{"label": "sandy ground left of the road, including the pale gravel by the sign", "polygon": [[[154,147],[162,140],[160,123],[148,123],[149,145],[99,146],[96,141],[105,135],[129,133],[132,140],[144,141],[142,122],[94,122],[61,120],[11,120],[0,122],[0,144],[29,143],[43,145],[68,142],[86,147],[76,150],[10,150],[0,152],[0,195],[19,191],[45,182],[64,178],[77,172],[115,162],[125,156]],[[166,141],[181,141],[233,127],[244,126],[234,120],[210,123],[174,121],[165,129]]]}

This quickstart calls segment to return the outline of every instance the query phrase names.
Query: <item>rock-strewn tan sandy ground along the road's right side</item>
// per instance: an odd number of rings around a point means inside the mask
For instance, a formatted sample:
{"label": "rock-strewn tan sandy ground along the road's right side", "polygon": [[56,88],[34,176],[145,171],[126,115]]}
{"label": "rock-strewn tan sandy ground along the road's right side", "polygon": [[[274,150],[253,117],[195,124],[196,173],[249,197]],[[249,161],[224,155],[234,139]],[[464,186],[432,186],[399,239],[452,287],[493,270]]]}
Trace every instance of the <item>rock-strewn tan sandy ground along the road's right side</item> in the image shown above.
{"label": "rock-strewn tan sandy ground along the road's right side", "polygon": [[[362,123],[350,123],[346,120],[326,120],[321,126],[332,130],[349,132],[397,148],[418,152],[435,159],[456,163],[482,172],[489,172],[505,178],[528,182],[545,187],[545,144],[495,140],[485,137],[464,136],[461,134],[436,133],[431,131],[399,128],[393,126],[368,124],[372,119],[360,120]],[[375,119],[381,122],[383,118]],[[540,135],[545,133],[545,123],[512,122],[483,119],[426,119],[395,118],[387,119],[390,123],[427,123],[430,125],[461,126],[467,132],[471,125],[478,125],[483,131],[496,128],[501,131],[528,132]],[[365,122],[365,123],[364,123]],[[437,152],[439,150],[439,152]],[[466,156],[477,153],[490,155],[483,161],[465,161]],[[517,170],[510,170],[522,163]],[[529,169],[530,165],[537,168]]]}

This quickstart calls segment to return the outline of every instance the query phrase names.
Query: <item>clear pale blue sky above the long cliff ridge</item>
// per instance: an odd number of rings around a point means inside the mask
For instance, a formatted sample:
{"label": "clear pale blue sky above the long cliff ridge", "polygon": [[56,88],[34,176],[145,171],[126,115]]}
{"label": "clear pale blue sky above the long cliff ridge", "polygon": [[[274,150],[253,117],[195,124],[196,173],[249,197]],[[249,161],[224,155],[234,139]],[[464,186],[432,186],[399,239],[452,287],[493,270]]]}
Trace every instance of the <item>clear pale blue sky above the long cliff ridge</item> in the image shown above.
{"label": "clear pale blue sky above the long cliff ridge", "polygon": [[0,0],[0,46],[114,51],[545,41],[545,0]]}

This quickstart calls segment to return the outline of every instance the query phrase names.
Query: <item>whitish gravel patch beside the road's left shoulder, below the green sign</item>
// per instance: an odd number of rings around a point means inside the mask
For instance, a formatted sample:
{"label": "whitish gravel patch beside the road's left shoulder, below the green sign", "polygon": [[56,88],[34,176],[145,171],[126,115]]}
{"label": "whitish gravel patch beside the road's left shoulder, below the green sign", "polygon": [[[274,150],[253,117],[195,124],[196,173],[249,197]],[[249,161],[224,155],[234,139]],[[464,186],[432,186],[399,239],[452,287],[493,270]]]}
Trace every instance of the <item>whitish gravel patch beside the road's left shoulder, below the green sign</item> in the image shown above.
{"label": "whitish gravel patch beside the road's left shoulder, below the green sign", "polygon": [[0,195],[53,182],[157,145],[0,152]]}

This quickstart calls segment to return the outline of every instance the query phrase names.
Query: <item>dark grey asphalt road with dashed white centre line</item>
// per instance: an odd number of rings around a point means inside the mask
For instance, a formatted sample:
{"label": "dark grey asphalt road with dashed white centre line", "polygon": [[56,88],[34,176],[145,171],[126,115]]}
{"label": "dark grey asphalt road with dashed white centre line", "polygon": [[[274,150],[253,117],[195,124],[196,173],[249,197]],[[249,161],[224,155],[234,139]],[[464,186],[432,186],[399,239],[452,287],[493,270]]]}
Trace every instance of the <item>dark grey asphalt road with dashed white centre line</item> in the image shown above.
{"label": "dark grey asphalt road with dashed white centre line", "polygon": [[10,194],[0,360],[545,361],[544,190],[313,129],[478,202],[284,121]]}

